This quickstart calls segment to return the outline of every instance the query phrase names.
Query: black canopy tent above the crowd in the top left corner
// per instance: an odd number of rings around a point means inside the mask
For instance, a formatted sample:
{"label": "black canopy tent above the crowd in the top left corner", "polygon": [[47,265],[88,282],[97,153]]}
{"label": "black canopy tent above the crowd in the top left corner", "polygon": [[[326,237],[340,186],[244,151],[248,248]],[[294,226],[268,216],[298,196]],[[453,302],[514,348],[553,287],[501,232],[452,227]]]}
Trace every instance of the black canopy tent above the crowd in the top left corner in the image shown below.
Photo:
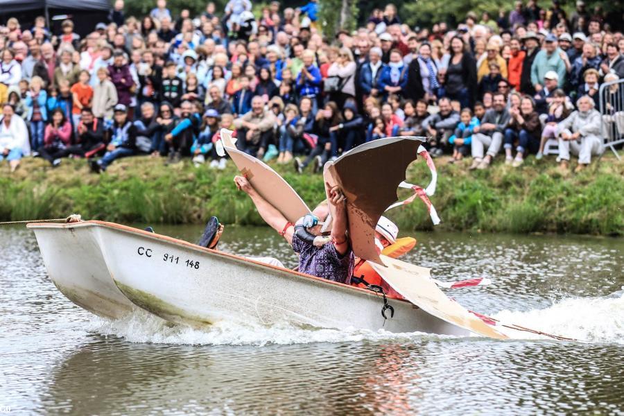
{"label": "black canopy tent above the crowd in the top left corner", "polygon": [[[43,15],[52,28],[55,16],[67,15],[73,20],[76,33],[80,35],[93,31],[100,21],[107,22],[110,9],[110,0],[0,0],[3,22],[10,17],[17,17],[20,23],[31,24],[36,16]],[[27,27],[30,26],[22,26]]]}

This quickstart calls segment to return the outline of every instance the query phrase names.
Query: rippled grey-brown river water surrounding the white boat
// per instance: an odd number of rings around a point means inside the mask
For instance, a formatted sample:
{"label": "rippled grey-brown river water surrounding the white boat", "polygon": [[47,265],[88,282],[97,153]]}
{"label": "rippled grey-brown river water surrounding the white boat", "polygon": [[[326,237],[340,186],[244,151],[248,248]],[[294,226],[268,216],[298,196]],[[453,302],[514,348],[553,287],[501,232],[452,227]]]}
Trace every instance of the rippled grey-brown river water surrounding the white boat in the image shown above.
{"label": "rippled grey-brown river water surrounding the white boat", "polygon": [[[156,227],[196,241],[200,227]],[[418,233],[406,259],[469,309],[583,342],[110,322],[46,276],[35,237],[0,228],[0,413],[624,414],[624,240]],[[295,257],[266,228],[220,248]]]}

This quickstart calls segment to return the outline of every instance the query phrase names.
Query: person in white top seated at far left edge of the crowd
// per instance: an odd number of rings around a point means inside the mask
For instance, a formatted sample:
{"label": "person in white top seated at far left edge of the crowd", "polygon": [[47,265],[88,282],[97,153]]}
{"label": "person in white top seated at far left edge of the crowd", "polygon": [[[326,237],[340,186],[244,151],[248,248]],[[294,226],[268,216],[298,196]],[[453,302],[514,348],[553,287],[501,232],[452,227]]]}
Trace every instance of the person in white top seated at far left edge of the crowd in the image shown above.
{"label": "person in white top seated at far left edge of the crowd", "polygon": [[0,162],[6,159],[13,173],[21,158],[30,153],[26,123],[15,114],[12,105],[4,104],[0,117]]}

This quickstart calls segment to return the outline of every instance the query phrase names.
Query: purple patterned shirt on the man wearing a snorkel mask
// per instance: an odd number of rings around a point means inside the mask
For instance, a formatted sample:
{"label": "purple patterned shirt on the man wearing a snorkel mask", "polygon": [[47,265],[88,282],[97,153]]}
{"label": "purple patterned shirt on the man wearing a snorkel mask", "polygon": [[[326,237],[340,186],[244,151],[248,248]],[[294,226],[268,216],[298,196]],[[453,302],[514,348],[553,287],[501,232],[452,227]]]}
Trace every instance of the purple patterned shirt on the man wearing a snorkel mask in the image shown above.
{"label": "purple patterned shirt on the man wearing a snorkel mask", "polygon": [[338,283],[351,283],[355,263],[351,248],[341,256],[332,243],[315,247],[294,234],[293,250],[299,253],[300,272]]}

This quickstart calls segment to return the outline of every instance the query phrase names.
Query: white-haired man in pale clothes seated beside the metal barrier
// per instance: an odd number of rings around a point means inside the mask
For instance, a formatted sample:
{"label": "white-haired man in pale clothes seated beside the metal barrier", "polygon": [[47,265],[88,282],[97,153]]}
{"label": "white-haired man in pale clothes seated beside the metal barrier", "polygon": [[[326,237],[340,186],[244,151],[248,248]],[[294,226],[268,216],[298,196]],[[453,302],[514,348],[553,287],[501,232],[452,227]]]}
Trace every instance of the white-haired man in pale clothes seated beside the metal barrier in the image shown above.
{"label": "white-haired man in pale clothes seated beside the metal barrier", "polygon": [[566,174],[569,168],[570,153],[578,155],[575,173],[591,163],[591,156],[602,155],[605,150],[600,137],[600,113],[593,108],[593,100],[582,96],[576,102],[578,110],[557,125],[559,137],[560,170]]}

